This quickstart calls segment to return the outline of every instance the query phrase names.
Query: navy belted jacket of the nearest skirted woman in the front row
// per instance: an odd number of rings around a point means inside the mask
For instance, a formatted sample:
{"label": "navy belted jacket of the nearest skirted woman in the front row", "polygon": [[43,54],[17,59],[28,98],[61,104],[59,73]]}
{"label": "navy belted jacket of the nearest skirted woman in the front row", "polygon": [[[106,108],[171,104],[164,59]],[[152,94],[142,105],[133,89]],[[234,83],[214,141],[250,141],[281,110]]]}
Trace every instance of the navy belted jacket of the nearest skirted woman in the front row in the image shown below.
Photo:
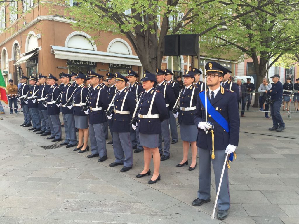
{"label": "navy belted jacket of the nearest skirted woman in the front row", "polygon": [[[171,88],[171,87],[170,87]],[[147,115],[149,107],[152,101],[154,92],[157,92],[152,105],[151,114],[159,114],[158,118],[139,118],[138,114]],[[138,117],[138,130],[142,134],[160,134],[161,122],[169,117],[169,111],[165,105],[165,99],[161,92],[158,92],[154,88],[149,91],[149,93],[144,96],[145,92],[141,94],[141,100],[138,104],[138,110],[136,116]]]}

